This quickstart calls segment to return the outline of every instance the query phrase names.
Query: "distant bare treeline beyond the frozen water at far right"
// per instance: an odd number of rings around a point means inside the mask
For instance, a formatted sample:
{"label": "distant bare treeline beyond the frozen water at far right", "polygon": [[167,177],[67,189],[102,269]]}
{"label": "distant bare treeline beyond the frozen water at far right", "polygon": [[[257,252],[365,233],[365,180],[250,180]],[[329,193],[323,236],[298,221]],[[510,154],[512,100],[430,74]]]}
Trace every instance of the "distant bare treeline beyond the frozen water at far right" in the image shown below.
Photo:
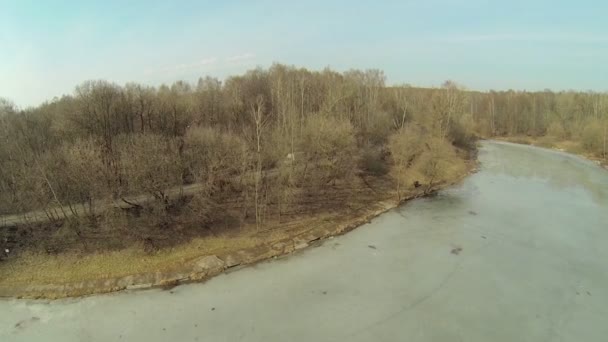
{"label": "distant bare treeline beyond the frozen water at far right", "polygon": [[528,136],[572,141],[608,158],[608,94],[551,91],[470,92],[469,112],[483,136]]}

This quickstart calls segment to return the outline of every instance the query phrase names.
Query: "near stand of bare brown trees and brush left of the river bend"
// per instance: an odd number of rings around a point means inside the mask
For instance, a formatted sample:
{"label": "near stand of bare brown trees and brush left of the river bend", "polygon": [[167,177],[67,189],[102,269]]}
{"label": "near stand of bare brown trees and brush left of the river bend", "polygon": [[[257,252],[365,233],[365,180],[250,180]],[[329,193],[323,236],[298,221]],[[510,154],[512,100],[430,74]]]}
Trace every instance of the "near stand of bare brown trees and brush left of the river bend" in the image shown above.
{"label": "near stand of bare brown trees and brush left of the river bend", "polygon": [[379,70],[284,65],[196,85],[88,81],[26,110],[4,101],[0,215],[47,220],[0,227],[0,277],[42,259],[49,271],[98,260],[96,275],[164,267],[429,190],[465,172],[467,101],[453,83],[422,92],[386,87]]}

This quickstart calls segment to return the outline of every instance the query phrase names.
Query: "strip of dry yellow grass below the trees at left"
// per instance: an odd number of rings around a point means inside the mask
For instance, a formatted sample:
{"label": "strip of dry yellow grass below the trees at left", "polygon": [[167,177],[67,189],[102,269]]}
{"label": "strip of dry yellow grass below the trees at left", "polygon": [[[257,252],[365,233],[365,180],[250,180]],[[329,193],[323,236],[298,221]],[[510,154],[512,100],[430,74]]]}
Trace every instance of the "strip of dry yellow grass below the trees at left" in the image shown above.
{"label": "strip of dry yellow grass below the trees at left", "polygon": [[288,229],[278,222],[269,223],[266,229],[256,231],[255,226],[245,226],[238,234],[195,238],[173,248],[146,254],[141,246],[120,251],[48,255],[25,253],[18,259],[0,263],[0,286],[25,286],[28,284],[67,284],[92,279],[105,279],[133,274],[166,272],[204,255],[220,255],[251,248],[262,243],[272,243],[310,227],[329,223],[330,215],[316,215],[292,220]]}

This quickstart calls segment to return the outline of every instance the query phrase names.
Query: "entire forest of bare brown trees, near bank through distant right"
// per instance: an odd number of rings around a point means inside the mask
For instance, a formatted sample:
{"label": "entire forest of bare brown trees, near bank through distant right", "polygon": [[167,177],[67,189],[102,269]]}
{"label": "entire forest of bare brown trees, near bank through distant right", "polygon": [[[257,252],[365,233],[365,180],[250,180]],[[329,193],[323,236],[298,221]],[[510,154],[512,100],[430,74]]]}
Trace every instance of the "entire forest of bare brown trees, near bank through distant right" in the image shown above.
{"label": "entire forest of bare brown trees, near bank through distant right", "polygon": [[380,70],[275,64],[196,84],[87,81],[35,108],[0,100],[0,215],[48,218],[0,230],[14,244],[44,231],[36,243],[48,250],[85,236],[148,241],[227,216],[260,229],[361,177],[390,181],[398,197],[430,188],[476,134],[572,139],[605,158],[607,125],[606,94],[388,87]]}

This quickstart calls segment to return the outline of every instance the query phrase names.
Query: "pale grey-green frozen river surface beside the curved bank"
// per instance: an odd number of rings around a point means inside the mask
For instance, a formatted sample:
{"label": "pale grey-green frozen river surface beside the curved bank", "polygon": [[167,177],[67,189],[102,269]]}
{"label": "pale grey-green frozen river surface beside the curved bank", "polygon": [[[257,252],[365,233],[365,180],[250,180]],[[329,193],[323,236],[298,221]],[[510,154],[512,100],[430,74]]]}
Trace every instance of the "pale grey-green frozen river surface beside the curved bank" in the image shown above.
{"label": "pale grey-green frozen river surface beside the curved bank", "polygon": [[0,341],[605,341],[608,173],[493,141],[479,159],[433,199],[205,284],[0,300]]}

